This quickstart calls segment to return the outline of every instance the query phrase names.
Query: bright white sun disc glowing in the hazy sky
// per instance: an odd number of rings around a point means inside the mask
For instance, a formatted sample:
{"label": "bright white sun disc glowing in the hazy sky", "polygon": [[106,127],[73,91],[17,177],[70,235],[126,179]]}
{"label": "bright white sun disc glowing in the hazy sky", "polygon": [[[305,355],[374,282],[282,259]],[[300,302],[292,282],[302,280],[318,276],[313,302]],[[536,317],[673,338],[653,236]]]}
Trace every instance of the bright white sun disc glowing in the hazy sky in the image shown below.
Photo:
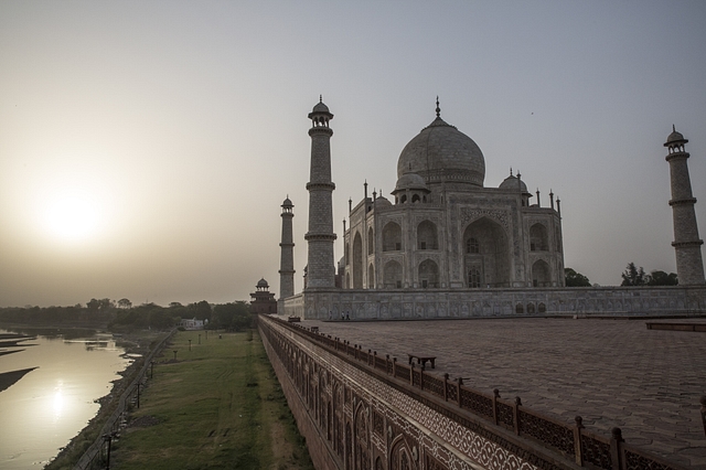
{"label": "bright white sun disc glowing in the hazy sky", "polygon": [[44,222],[53,237],[81,242],[96,234],[100,212],[87,194],[64,193],[47,203]]}

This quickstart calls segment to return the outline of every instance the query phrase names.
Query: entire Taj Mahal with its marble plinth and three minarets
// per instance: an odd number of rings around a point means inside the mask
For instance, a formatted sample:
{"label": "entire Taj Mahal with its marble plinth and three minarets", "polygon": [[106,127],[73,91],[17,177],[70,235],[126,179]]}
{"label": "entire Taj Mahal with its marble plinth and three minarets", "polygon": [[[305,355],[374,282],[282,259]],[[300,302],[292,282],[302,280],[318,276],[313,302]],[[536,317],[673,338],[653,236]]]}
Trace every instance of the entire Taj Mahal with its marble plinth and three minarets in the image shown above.
{"label": "entire Taj Mahal with its marble plinth and three minarets", "polygon": [[[333,114],[309,114],[311,165],[304,289],[293,291],[293,204],[282,203],[278,312],[306,319],[386,320],[532,314],[696,314],[706,284],[688,175],[688,142],[667,137],[677,287],[567,288],[560,201],[542,205],[520,172],[485,185],[485,158],[457,127],[436,118],[397,159],[389,199],[349,201],[343,258],[334,264]],[[665,172],[666,173],[666,172]],[[339,242],[340,243],[340,242]]]}

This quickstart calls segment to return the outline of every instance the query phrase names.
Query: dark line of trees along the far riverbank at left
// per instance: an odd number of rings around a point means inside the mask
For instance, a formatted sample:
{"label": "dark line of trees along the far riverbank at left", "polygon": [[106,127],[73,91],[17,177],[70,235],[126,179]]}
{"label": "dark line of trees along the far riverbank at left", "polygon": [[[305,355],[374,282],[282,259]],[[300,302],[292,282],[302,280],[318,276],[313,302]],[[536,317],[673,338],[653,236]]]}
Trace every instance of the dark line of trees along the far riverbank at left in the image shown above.
{"label": "dark line of trees along the far riverbank at left", "polygon": [[34,325],[81,325],[108,328],[113,331],[131,329],[168,330],[182,319],[203,320],[212,330],[242,331],[253,328],[249,302],[208,303],[205,300],[189,303],[171,302],[132,306],[128,299],[90,299],[86,306],[72,307],[7,307],[0,308],[0,322]]}

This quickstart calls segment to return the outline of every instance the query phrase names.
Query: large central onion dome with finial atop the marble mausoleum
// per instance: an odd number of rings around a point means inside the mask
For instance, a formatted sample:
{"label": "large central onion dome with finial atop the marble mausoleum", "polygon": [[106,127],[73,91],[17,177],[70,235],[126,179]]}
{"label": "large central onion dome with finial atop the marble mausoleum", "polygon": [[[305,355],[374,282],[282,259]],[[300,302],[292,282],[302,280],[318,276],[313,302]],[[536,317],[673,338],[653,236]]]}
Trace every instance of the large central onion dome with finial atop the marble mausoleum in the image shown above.
{"label": "large central onion dome with finial atop the marble mausoleum", "polygon": [[438,115],[409,141],[397,160],[397,179],[417,173],[428,184],[469,183],[483,186],[485,159],[478,145]]}

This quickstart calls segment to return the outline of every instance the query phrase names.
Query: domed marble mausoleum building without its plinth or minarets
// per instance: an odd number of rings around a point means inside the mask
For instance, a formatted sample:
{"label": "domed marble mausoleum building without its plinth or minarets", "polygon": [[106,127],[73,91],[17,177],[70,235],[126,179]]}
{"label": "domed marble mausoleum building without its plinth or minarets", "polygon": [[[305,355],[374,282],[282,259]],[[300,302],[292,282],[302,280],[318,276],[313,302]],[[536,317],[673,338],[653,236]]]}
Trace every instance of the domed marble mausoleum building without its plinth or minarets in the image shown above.
{"label": "domed marble mausoleum building without its plinth or minarets", "polygon": [[[440,116],[397,160],[394,201],[373,193],[351,207],[344,235],[349,289],[564,286],[561,218],[521,174],[484,186],[478,145]],[[367,188],[366,188],[367,192]],[[558,204],[558,202],[557,202]]]}

